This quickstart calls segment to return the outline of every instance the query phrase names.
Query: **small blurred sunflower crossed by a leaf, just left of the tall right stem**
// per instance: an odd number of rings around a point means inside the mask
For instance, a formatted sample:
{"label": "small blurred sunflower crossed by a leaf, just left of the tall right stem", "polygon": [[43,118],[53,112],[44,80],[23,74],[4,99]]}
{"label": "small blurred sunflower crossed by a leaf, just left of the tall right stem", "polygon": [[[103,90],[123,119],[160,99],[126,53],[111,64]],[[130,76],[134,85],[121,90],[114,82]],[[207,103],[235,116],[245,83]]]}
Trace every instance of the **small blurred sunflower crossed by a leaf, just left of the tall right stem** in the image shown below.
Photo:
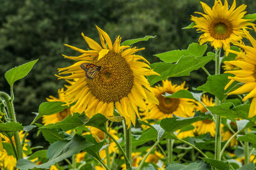
{"label": "small blurred sunflower crossed by a leaf, just left of the tall right stem", "polygon": [[[209,96],[203,94],[201,97],[201,102],[205,105],[205,106],[215,106],[215,103],[213,103],[212,101],[212,97],[209,99]],[[196,110],[202,112],[202,113],[206,113],[207,109],[203,106],[203,104],[201,103],[196,103],[197,107]],[[209,132],[211,134],[212,137],[215,136],[215,130],[216,130],[216,126],[215,126],[215,122],[213,120],[210,119],[205,119],[199,122],[195,122],[195,131],[200,135],[200,134],[206,134],[207,132]]]}

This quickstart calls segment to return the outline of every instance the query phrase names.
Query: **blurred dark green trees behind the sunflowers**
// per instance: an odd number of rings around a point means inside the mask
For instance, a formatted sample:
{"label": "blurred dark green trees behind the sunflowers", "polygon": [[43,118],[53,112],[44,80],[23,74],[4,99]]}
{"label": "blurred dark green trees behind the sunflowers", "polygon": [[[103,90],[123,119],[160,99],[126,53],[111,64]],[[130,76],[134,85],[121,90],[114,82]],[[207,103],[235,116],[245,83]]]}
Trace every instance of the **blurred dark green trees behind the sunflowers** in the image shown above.
{"label": "blurred dark green trees behind the sunflowers", "polygon": [[[204,2],[214,4],[214,0]],[[243,3],[248,5],[248,13],[256,13],[255,0],[237,0],[237,6]],[[31,112],[37,112],[49,95],[58,97],[57,90],[65,83],[54,76],[57,68],[72,64],[61,54],[79,55],[64,44],[88,48],[81,32],[97,42],[95,25],[106,31],[112,41],[118,35],[122,41],[156,36],[136,46],[146,48],[140,54],[151,63],[159,62],[154,54],[186,49],[189,43],[198,41],[200,34],[195,29],[182,30],[191,23],[190,15],[195,11],[202,11],[198,0],[0,0],[0,90],[10,92],[4,78],[8,69],[39,59],[31,73],[14,85],[17,119],[29,125],[34,118]],[[213,62],[206,67],[214,73]],[[205,78],[204,71],[198,70],[189,77],[172,80],[187,81],[186,86],[192,89],[202,85]],[[29,138],[33,139],[33,146],[44,145],[35,132]]]}

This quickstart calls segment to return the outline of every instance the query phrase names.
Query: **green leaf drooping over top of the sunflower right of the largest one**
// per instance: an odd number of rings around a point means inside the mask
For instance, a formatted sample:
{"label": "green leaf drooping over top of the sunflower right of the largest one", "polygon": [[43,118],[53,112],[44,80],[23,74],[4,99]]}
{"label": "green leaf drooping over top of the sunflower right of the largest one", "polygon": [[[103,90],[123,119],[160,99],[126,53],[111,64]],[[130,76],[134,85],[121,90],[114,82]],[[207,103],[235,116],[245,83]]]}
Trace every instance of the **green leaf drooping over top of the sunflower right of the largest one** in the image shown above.
{"label": "green leaf drooping over top of the sunflower right of the largest one", "polygon": [[165,97],[172,97],[172,98],[186,98],[186,99],[193,99],[195,101],[198,101],[198,99],[200,100],[200,97],[198,98],[198,96],[201,96],[202,93],[193,93],[193,92],[189,92],[189,90],[179,90],[178,92],[175,92],[173,94],[165,94]]}

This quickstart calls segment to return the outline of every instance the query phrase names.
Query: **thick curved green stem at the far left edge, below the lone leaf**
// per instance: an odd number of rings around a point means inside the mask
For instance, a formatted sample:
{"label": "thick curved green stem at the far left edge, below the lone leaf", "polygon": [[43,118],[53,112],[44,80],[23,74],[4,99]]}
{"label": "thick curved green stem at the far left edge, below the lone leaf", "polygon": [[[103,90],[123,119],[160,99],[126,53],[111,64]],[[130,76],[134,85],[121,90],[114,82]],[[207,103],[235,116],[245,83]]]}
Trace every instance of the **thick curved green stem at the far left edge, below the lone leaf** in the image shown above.
{"label": "thick curved green stem at the far left edge, below the lone leaf", "polygon": [[[12,96],[13,96],[13,94],[12,94]],[[4,92],[0,92],[0,97],[2,97],[6,103],[10,120],[12,122],[17,122],[14,107],[13,107],[13,101],[10,98],[10,96],[8,96],[8,94],[6,94]],[[21,147],[19,132],[15,132],[14,139],[15,139],[15,145],[16,145],[16,150],[17,150],[17,155],[18,155],[17,159],[22,159],[23,154],[22,154],[22,147]]]}

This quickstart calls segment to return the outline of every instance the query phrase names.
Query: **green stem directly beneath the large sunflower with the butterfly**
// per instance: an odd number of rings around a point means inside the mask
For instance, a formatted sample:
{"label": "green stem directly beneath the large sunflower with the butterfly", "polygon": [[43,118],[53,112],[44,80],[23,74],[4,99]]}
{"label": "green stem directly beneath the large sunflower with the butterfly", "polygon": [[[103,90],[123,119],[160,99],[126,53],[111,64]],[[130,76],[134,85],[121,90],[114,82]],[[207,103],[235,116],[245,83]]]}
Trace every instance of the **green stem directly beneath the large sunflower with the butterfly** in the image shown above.
{"label": "green stem directly beneath the large sunflower with the butterfly", "polygon": [[129,127],[127,129],[127,125],[125,124],[125,136],[126,136],[126,140],[125,140],[125,153],[127,155],[129,164],[126,165],[126,169],[129,169],[130,167],[132,167],[132,132],[131,132],[131,127]]}

